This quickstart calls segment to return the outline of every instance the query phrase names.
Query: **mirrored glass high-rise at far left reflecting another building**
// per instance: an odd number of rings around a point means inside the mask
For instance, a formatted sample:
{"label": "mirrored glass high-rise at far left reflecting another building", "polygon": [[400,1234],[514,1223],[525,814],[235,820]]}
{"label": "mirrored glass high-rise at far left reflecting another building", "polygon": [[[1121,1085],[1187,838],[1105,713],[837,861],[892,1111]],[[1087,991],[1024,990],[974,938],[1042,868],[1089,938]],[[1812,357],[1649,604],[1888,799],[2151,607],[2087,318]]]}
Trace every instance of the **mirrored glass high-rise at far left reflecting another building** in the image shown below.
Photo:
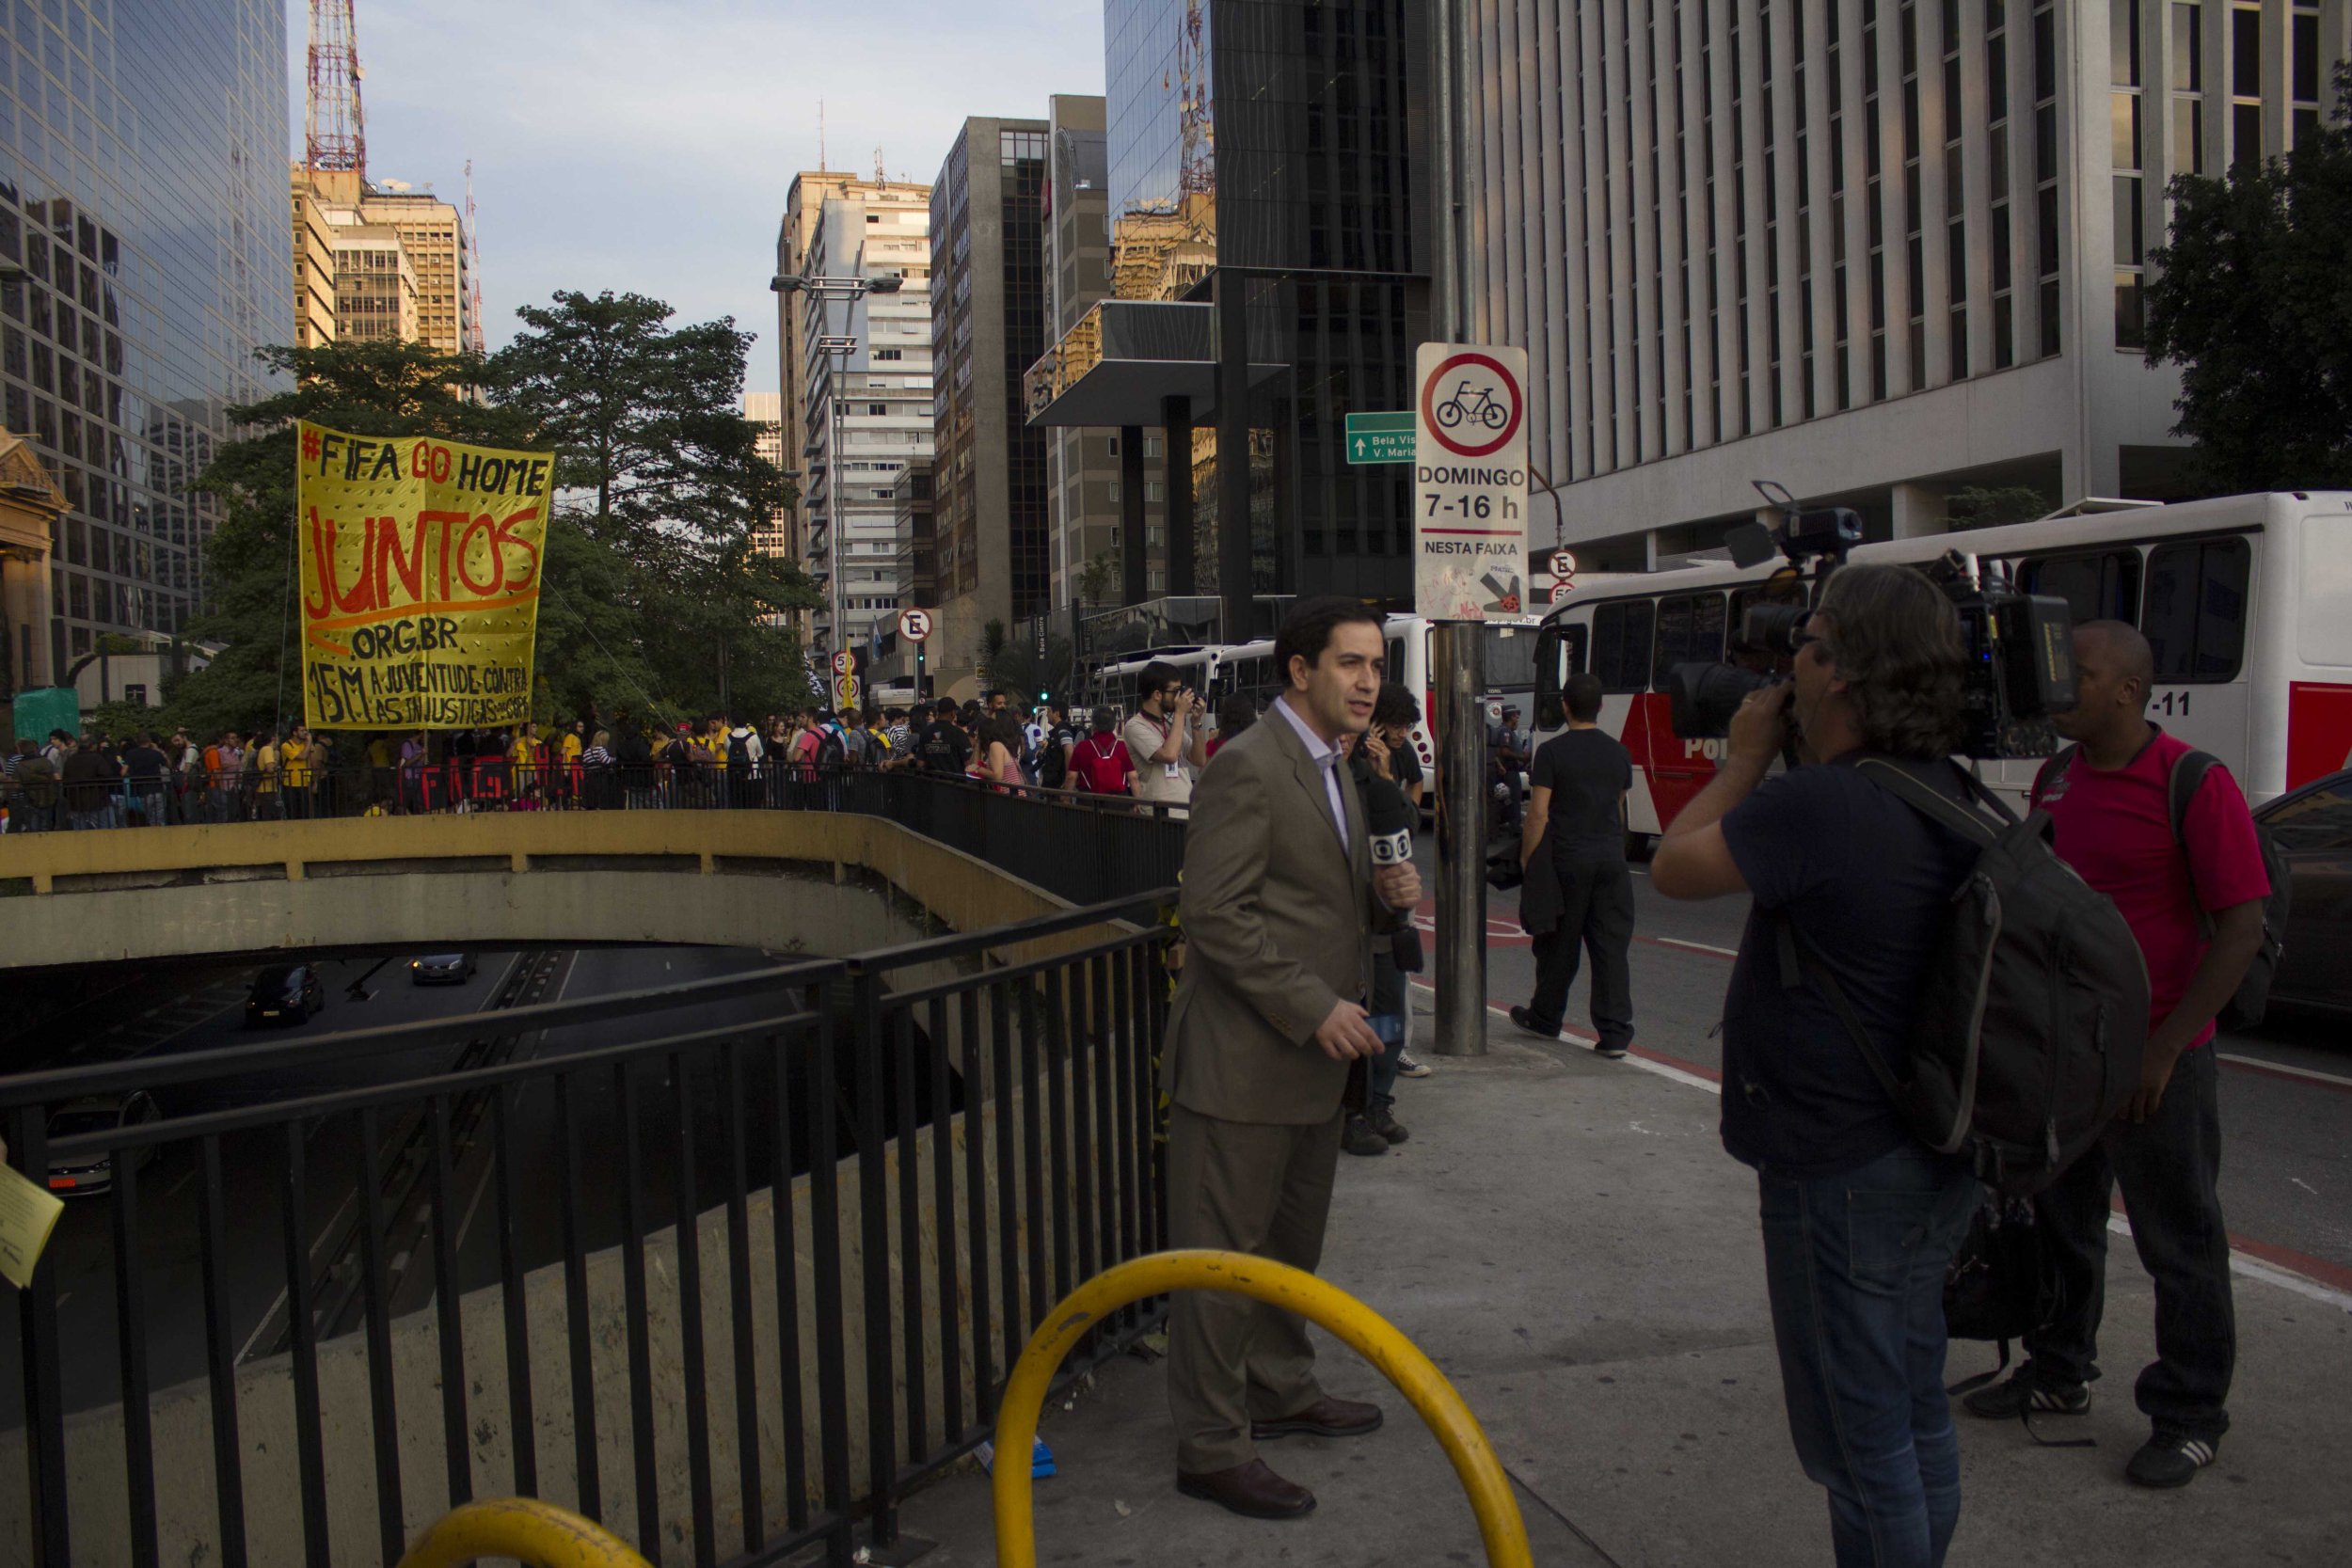
{"label": "mirrored glass high-rise at far left reflecting another building", "polygon": [[99,635],[186,628],[219,520],[191,482],[230,404],[275,390],[254,350],[296,320],[285,28],[278,0],[0,14],[0,411],[66,501],[59,679]]}

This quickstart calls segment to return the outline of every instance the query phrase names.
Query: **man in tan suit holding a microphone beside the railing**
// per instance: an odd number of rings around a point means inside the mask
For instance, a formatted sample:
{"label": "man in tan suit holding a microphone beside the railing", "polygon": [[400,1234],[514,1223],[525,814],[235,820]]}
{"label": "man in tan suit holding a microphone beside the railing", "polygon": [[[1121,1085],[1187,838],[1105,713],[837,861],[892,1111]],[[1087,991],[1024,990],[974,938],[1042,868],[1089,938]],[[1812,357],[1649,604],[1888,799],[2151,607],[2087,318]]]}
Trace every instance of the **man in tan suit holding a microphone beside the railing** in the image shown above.
{"label": "man in tan suit holding a microphone beside the railing", "polygon": [[[1411,865],[1371,870],[1364,804],[1341,766],[1371,724],[1378,611],[1305,599],[1275,639],[1289,684],[1192,792],[1185,966],[1169,1011],[1169,1239],[1301,1269],[1322,1258],[1348,1067],[1381,1051],[1364,1013],[1371,933],[1421,903]],[[1315,1382],[1305,1324],[1244,1295],[1183,1291],[1169,1314],[1176,1490],[1251,1519],[1315,1493],[1256,1439],[1357,1436],[1381,1408]]]}

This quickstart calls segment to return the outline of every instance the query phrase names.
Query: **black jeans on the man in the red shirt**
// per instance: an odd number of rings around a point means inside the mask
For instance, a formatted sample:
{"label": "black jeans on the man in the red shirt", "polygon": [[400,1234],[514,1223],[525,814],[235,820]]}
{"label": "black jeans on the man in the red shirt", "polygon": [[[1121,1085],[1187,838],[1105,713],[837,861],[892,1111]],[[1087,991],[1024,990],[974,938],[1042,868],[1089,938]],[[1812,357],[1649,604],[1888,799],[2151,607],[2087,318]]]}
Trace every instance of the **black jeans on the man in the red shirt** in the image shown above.
{"label": "black jeans on the man in the red shirt", "polygon": [[2030,1335],[2034,1373],[2051,1382],[2098,1378],[2098,1319],[2107,1298],[2107,1194],[2124,1190],[2131,1241],[2157,1281],[2157,1359],[2140,1373],[2140,1410],[2159,1427],[2213,1439],[2230,1429],[2237,1309],[2220,1175],[2220,1065],[2213,1046],[2183,1051],[2157,1114],[2117,1121],[2034,1208],[2056,1260],[2063,1305]]}

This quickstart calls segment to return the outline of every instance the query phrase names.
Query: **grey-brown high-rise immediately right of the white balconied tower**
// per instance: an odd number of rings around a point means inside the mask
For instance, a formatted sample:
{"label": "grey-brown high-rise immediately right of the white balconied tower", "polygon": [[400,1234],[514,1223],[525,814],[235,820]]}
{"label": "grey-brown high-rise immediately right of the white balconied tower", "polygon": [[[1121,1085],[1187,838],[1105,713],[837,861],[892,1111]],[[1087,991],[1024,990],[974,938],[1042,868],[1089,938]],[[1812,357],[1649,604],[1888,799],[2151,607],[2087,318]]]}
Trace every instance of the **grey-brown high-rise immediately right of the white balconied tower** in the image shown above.
{"label": "grey-brown high-rise immediately right of the white balconied tower", "polygon": [[938,628],[950,691],[990,621],[1051,609],[1044,430],[1021,376],[1047,346],[1044,120],[964,120],[931,186],[931,364]]}

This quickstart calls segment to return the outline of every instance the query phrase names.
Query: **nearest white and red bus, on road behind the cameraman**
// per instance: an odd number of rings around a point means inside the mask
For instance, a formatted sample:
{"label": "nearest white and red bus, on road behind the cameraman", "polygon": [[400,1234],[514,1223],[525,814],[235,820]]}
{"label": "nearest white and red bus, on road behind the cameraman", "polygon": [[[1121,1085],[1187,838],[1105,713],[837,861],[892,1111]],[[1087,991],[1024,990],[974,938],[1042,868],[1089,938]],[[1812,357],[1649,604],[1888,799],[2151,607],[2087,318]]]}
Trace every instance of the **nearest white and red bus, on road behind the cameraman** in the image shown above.
{"label": "nearest white and red bus, on road behind the cameraman", "polygon": [[[2213,752],[2251,804],[2347,766],[2352,752],[2352,494],[2270,494],[2077,508],[2039,522],[1858,545],[1851,562],[1926,564],[1945,550],[2004,562],[2077,621],[2131,621],[2157,654],[2147,715]],[[1628,827],[1656,835],[1708,778],[1722,741],[1675,733],[1668,670],[1724,658],[1740,611],[1785,562],[1618,576],[1578,585],[1536,644],[1538,738],[1559,689],[1602,679],[1602,729],[1632,752]],[[1985,762],[2023,806],[2039,759]]]}

